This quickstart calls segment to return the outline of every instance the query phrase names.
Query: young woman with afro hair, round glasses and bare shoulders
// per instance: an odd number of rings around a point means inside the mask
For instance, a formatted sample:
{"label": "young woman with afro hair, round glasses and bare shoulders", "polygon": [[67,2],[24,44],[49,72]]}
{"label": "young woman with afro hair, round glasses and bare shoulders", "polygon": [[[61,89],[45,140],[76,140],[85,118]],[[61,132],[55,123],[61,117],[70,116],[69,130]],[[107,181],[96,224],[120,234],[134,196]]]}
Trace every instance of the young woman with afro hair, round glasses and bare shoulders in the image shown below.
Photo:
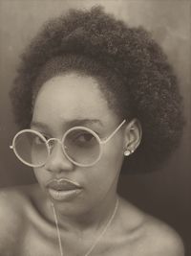
{"label": "young woman with afro hair, round glasses and bare shoulders", "polygon": [[121,173],[157,170],[180,142],[177,80],[151,35],[99,7],[55,18],[11,101],[11,150],[38,183],[1,192],[1,255],[183,255],[174,230],[117,195]]}

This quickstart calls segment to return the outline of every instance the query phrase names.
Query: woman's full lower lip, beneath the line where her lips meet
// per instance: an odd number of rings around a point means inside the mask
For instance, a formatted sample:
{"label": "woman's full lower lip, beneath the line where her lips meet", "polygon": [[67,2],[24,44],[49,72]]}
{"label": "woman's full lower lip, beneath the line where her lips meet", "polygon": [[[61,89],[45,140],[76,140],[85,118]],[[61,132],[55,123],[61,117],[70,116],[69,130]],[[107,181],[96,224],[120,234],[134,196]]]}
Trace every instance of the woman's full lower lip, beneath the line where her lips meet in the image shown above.
{"label": "woman's full lower lip, beneath the line where her lips meet", "polygon": [[57,191],[54,189],[49,189],[48,191],[51,198],[57,201],[72,200],[81,193],[81,189],[66,190],[66,191],[63,191],[63,190]]}

